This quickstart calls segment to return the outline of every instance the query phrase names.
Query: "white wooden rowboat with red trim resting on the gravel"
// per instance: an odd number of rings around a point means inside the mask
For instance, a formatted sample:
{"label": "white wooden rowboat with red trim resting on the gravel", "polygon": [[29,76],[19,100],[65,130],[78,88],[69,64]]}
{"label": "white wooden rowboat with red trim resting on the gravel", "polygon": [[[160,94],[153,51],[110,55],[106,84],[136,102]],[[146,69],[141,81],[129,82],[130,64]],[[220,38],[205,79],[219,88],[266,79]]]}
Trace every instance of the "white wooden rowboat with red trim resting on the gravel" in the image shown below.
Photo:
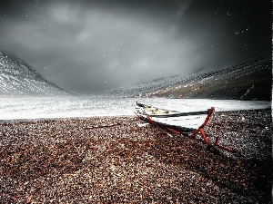
{"label": "white wooden rowboat with red trim resting on the gravel", "polygon": [[148,121],[150,124],[164,128],[167,131],[187,135],[193,139],[196,139],[196,135],[200,134],[203,141],[207,144],[207,149],[210,151],[218,152],[218,149],[221,149],[239,153],[239,151],[233,148],[220,145],[218,137],[216,137],[214,143],[210,143],[207,140],[207,134],[203,131],[203,128],[207,125],[207,121],[214,111],[214,107],[203,112],[168,111],[136,102],[136,115],[141,120]]}

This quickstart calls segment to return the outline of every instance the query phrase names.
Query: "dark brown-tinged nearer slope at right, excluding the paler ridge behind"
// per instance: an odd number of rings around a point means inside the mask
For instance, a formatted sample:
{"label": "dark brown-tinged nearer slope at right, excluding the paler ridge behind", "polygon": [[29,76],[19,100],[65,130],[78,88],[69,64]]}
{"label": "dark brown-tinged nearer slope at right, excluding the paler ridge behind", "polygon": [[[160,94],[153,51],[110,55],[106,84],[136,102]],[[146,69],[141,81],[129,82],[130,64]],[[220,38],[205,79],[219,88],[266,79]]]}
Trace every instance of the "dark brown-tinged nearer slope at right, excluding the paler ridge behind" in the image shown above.
{"label": "dark brown-tinged nearer slope at right, excluding the paler ridge behind", "polygon": [[262,58],[217,72],[198,74],[149,94],[161,97],[270,101],[271,67],[272,60]]}

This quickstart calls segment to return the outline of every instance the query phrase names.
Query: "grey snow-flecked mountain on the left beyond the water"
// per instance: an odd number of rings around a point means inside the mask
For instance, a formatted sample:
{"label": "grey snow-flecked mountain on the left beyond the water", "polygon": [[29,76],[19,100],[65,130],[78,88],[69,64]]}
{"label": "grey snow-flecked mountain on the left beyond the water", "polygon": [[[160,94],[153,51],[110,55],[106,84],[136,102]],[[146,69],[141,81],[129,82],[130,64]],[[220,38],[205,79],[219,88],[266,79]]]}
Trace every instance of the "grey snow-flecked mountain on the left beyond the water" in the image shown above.
{"label": "grey snow-flecked mountain on the left beyond the water", "polygon": [[0,52],[0,95],[56,96],[71,92],[45,80],[29,64],[12,54]]}

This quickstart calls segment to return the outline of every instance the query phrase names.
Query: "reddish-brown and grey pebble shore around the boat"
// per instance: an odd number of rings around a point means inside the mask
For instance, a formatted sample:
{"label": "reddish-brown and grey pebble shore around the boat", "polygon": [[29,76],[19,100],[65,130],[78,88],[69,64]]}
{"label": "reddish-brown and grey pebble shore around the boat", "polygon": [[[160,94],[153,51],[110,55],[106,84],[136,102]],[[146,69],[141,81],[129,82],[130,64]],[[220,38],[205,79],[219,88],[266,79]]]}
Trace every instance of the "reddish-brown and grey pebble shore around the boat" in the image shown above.
{"label": "reddish-brown and grey pebble shore around the boat", "polygon": [[215,112],[206,144],[139,121],[0,121],[0,203],[271,203],[271,110]]}

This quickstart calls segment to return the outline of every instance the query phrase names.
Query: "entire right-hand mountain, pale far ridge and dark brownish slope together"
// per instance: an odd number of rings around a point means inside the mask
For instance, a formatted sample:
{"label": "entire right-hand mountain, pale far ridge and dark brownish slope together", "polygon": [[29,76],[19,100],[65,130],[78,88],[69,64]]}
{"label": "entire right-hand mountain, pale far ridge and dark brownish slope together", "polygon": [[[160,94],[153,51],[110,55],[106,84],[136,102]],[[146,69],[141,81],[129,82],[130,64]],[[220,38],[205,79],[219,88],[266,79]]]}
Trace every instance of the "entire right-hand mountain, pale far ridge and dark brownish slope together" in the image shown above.
{"label": "entire right-hand mountain, pale far ridge and dark brownish slope together", "polygon": [[107,93],[126,97],[270,101],[271,89],[272,60],[265,56],[215,72],[201,71],[187,77],[176,75]]}

